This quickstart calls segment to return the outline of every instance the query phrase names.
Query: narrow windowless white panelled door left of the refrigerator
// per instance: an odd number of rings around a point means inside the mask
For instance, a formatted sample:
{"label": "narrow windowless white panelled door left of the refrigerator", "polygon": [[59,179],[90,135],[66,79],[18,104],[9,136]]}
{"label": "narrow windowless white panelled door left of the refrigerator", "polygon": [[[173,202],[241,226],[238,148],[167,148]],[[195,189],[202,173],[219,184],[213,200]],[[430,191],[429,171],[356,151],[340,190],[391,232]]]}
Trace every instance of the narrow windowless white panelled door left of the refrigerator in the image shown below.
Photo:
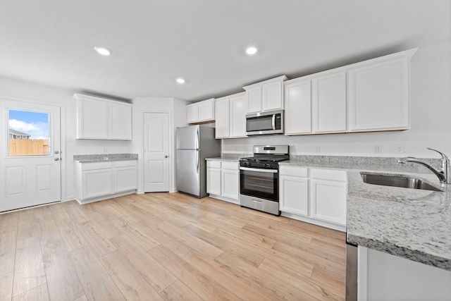
{"label": "narrow windowless white panelled door left of the refrigerator", "polygon": [[144,192],[169,191],[169,114],[144,113]]}

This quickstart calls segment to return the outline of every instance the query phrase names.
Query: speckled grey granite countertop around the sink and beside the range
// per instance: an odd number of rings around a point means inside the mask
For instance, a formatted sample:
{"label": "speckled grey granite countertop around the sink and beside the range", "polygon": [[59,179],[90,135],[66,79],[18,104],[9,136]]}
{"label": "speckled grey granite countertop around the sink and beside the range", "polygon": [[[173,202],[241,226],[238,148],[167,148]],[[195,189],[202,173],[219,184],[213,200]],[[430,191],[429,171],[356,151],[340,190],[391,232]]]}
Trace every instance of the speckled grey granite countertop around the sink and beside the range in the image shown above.
{"label": "speckled grey granite countertop around the sink and beside the range", "polygon": [[[397,164],[396,160],[290,156],[290,161],[279,164],[346,169],[347,242],[451,271],[451,185],[440,185],[438,178],[424,166]],[[440,165],[438,159],[426,161]],[[443,192],[367,184],[360,172],[413,176]]]}

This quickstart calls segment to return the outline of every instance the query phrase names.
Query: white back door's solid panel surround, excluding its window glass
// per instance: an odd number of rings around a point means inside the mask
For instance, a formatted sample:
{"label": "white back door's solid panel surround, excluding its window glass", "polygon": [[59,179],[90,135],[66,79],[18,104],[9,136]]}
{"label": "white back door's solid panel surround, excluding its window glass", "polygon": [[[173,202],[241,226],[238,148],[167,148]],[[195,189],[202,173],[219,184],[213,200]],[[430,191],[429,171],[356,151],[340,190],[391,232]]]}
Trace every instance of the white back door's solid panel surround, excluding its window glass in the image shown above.
{"label": "white back door's solid panel surround, excluding its window glass", "polygon": [[[49,115],[49,154],[10,156],[8,111]],[[0,211],[61,201],[61,108],[35,102],[0,99]]]}

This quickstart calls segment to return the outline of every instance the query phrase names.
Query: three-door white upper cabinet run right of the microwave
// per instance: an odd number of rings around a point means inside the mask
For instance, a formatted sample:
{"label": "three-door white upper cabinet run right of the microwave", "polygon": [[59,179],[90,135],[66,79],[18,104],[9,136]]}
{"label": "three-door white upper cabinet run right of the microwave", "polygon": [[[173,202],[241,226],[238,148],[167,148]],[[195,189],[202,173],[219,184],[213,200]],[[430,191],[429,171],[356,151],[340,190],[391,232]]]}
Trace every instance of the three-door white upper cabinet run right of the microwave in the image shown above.
{"label": "three-door white upper cabinet run right of the microwave", "polygon": [[285,135],[406,130],[416,49],[284,82]]}

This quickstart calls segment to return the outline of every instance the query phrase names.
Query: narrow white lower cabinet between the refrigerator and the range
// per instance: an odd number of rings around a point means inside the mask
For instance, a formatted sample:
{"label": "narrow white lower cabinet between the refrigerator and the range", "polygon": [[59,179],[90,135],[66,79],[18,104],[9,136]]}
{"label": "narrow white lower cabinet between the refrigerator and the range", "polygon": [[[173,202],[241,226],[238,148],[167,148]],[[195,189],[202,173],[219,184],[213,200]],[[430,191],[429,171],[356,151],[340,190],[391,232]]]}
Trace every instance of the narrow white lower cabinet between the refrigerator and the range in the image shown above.
{"label": "narrow white lower cabinet between the refrigerator and the range", "polygon": [[206,161],[206,192],[211,197],[238,204],[240,171],[235,161]]}

